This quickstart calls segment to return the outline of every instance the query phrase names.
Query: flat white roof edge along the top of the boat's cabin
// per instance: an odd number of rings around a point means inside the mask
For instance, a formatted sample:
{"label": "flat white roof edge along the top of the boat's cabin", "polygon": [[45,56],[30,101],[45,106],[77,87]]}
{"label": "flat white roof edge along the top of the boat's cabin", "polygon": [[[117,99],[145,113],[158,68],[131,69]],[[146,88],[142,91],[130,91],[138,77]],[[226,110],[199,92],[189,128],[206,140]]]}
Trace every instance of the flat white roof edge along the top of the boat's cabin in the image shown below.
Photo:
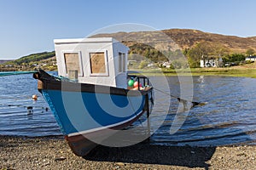
{"label": "flat white roof edge along the top of the boat's cabin", "polygon": [[73,39],[55,39],[55,44],[61,43],[90,43],[90,42],[118,42],[113,37],[96,37],[96,38],[73,38]]}

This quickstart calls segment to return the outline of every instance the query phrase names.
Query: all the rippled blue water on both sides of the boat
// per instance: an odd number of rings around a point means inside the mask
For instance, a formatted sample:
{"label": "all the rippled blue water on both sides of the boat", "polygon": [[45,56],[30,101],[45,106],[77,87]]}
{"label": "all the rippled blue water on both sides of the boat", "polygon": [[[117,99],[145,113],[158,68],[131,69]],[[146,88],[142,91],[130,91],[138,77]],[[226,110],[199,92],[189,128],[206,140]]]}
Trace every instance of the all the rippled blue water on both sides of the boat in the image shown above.
{"label": "all the rippled blue water on both sides of the boat", "polygon": [[[152,77],[158,81],[160,77]],[[61,135],[51,111],[37,90],[37,81],[32,75],[0,77],[0,135],[47,136]],[[166,77],[172,95],[178,96],[180,83],[177,77]],[[194,100],[207,105],[194,107],[186,116],[177,133],[170,134],[170,127],[177,115],[177,99],[171,99],[168,111],[162,109],[170,101],[162,94],[152,113],[151,137],[153,144],[256,144],[256,79],[243,77],[193,77]],[[167,92],[169,88],[160,87]],[[32,101],[32,94],[38,101]],[[26,107],[32,106],[28,115]],[[167,114],[167,116],[166,116]],[[159,120],[161,126],[154,127]]]}

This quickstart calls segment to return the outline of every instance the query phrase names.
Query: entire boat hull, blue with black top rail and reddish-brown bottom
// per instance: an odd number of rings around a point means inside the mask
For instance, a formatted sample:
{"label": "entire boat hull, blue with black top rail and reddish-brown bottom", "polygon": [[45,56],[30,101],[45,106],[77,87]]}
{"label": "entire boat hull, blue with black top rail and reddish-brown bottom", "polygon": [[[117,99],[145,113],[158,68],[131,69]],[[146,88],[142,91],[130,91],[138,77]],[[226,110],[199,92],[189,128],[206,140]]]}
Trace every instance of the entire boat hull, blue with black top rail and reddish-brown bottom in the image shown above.
{"label": "entire boat hull, blue with black top rail and reddish-brown bottom", "polygon": [[[67,143],[78,156],[85,156],[113,130],[123,129],[154,105],[153,88],[128,90],[61,81],[44,71],[34,74]],[[110,130],[109,130],[110,129]],[[112,129],[112,131],[111,131]]]}

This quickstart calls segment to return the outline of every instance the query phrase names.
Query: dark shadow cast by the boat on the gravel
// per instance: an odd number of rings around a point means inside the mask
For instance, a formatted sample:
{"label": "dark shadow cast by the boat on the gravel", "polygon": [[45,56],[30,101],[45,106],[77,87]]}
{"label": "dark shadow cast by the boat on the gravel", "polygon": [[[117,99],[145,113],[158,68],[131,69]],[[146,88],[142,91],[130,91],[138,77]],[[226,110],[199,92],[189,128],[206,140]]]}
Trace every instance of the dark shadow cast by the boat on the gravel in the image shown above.
{"label": "dark shadow cast by the boat on the gravel", "polygon": [[206,161],[212,158],[216,147],[164,146],[148,143],[123,148],[99,145],[84,159],[90,161],[113,161],[172,165],[182,167],[210,167]]}

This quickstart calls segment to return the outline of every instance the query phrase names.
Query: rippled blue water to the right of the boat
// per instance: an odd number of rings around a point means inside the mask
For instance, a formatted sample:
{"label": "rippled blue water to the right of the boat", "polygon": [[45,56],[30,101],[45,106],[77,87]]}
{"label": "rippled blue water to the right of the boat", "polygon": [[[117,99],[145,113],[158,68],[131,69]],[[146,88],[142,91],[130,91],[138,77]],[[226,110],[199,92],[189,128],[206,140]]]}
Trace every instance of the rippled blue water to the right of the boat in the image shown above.
{"label": "rippled blue water to the right of the boat", "polygon": [[[167,79],[171,93],[178,96],[177,77]],[[192,108],[183,126],[170,135],[177,112],[177,99],[172,99],[165,122],[153,135],[154,143],[256,144],[256,79],[201,76],[193,77],[193,82],[194,101],[207,102],[207,105]]]}

